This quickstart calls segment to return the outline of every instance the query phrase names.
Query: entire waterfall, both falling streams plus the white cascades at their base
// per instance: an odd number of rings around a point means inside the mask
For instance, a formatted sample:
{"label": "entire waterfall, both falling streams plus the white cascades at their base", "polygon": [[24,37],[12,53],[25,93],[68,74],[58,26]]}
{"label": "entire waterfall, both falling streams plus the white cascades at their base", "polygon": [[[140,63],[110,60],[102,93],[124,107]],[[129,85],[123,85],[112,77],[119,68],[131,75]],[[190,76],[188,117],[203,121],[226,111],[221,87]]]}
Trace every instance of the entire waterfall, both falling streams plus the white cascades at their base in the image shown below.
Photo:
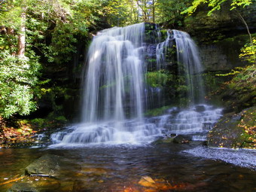
{"label": "entire waterfall, both falling streams plus the white cascades at their base", "polygon": [[[203,105],[205,109],[200,112],[192,105],[190,109],[179,109],[176,116],[159,117],[159,123],[144,117],[147,102],[144,38],[145,23],[105,29],[93,38],[87,55],[81,123],[53,133],[54,146],[146,144],[166,133],[205,132],[207,123],[212,126],[218,120],[219,109],[209,111],[208,105]],[[169,41],[175,41],[178,65],[184,68],[191,104],[203,102],[199,75],[203,69],[197,47],[187,33],[168,30],[166,41],[156,46],[157,69],[165,65]],[[195,136],[195,139],[204,138]]]}

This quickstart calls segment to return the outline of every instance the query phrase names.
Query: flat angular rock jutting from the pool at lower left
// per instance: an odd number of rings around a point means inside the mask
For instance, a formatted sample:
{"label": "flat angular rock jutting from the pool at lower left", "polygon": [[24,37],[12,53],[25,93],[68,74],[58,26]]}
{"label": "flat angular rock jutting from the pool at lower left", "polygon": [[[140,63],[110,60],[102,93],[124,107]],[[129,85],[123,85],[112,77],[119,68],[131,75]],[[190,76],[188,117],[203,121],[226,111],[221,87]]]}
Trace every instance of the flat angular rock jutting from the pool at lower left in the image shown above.
{"label": "flat angular rock jutting from the pool at lower left", "polygon": [[27,166],[25,172],[31,176],[56,177],[59,175],[63,159],[57,155],[46,154]]}

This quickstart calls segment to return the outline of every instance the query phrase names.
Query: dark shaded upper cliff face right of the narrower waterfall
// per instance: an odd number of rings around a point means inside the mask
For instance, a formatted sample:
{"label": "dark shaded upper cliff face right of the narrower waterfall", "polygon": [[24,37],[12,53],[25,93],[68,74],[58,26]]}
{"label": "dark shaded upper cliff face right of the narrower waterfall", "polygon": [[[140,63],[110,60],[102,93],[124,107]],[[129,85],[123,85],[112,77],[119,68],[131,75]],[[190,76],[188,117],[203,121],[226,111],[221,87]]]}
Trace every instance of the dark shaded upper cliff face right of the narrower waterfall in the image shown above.
{"label": "dark shaded upper cliff face right of the narrower waterfall", "polygon": [[202,64],[206,72],[227,71],[237,66],[244,66],[239,53],[241,47],[248,43],[247,23],[251,34],[256,31],[256,4],[230,11],[229,3],[221,5],[221,10],[213,11],[207,16],[209,8],[200,8],[184,20],[184,31],[195,39],[200,47]]}

